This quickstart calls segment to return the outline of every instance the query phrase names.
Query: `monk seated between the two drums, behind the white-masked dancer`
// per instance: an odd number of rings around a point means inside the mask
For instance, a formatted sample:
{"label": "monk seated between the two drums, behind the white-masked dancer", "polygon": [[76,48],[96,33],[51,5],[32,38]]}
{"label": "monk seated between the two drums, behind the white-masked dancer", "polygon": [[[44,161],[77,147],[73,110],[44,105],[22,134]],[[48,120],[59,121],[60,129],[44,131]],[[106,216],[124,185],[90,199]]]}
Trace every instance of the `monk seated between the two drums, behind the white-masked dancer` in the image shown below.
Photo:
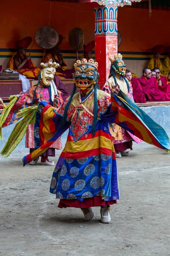
{"label": "monk seated between the two drums, behind the white-masked dancer", "polygon": [[56,75],[59,76],[60,79],[72,79],[74,70],[67,70],[67,64],[65,63],[64,58],[62,57],[62,54],[59,53],[59,46],[62,44],[63,37],[62,35],[59,35],[59,42],[56,47],[51,49],[51,51],[45,55],[44,60],[42,59],[42,62],[48,63],[48,61],[52,58],[54,62],[57,62],[59,64],[59,67],[56,70]]}

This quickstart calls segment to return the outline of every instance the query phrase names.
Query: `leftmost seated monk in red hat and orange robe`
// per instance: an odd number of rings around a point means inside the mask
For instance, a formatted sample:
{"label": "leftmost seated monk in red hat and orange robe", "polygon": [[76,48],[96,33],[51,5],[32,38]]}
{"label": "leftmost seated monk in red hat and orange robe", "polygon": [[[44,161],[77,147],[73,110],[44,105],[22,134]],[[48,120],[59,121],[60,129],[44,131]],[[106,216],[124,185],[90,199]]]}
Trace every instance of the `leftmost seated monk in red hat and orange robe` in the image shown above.
{"label": "leftmost seated monk in red hat and orange robe", "polygon": [[8,62],[8,68],[27,78],[37,78],[40,74],[40,68],[35,66],[30,56],[26,55],[27,47],[31,44],[31,41],[32,38],[30,36],[17,41],[18,52]]}

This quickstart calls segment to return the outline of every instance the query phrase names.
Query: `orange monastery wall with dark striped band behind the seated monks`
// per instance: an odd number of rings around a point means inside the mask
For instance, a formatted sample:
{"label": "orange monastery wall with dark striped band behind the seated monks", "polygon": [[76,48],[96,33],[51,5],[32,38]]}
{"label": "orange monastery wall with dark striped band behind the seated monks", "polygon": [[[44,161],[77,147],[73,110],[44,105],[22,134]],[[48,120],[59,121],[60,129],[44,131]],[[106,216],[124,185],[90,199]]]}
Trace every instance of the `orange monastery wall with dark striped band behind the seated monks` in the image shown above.
{"label": "orange monastery wall with dark striped band behind the seated monks", "polygon": [[[10,6],[10,8],[9,8]],[[51,13],[50,13],[51,6]],[[68,34],[74,27],[82,28],[85,44],[94,40],[94,8],[85,4],[59,3],[44,0],[1,0],[0,26],[0,64],[6,68],[8,60],[16,52],[16,41],[26,36],[33,38],[37,29],[48,23],[62,34],[65,39],[61,53],[68,68],[72,68],[76,53],[68,43]],[[170,45],[168,11],[153,10],[151,17],[147,9],[130,7],[119,8],[118,29],[122,34],[122,53],[127,69],[142,75],[142,69],[152,57],[150,48],[156,44]],[[32,47],[32,44],[29,48]],[[35,43],[31,49],[31,58],[39,66],[43,50]],[[79,50],[79,57],[83,48]],[[93,55],[95,58],[95,55]],[[164,58],[165,55],[161,55]]]}

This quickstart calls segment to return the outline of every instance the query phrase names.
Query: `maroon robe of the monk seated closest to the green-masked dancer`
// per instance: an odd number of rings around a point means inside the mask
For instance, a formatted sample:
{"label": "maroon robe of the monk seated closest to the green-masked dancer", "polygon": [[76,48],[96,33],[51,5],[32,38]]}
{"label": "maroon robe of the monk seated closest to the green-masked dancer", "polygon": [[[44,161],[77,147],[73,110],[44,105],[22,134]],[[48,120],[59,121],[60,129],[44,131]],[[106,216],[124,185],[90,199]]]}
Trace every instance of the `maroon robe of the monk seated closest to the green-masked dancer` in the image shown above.
{"label": "maroon robe of the monk seated closest to the green-masked dancer", "polygon": [[139,80],[136,77],[132,77],[131,80],[132,88],[133,88],[133,99],[135,102],[145,103],[146,98],[144,96],[144,92],[142,90],[142,86],[139,83]]}

